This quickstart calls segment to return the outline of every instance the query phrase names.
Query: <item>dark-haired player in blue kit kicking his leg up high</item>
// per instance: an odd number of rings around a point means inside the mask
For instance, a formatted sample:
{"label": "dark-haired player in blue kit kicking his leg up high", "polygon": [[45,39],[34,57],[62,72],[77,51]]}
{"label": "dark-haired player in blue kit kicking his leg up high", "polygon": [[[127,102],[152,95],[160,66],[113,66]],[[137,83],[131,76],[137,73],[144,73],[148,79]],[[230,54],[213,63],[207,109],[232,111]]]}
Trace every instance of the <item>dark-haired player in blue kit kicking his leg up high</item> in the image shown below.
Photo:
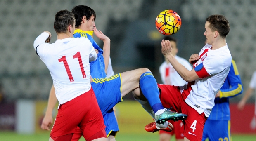
{"label": "dark-haired player in blue kit kicking his leg up high", "polygon": [[[142,89],[143,94],[146,93],[145,97],[152,106],[155,115],[158,115],[156,118],[157,122],[161,122],[163,120],[168,119],[170,120],[177,116],[185,118],[187,117],[187,115],[185,114],[167,111],[164,109],[158,96],[159,90],[157,87],[156,80],[154,79],[152,73],[147,68],[127,71],[107,78],[104,65],[105,58],[103,57],[106,52],[103,53],[102,49],[100,49],[97,43],[92,39],[91,35],[87,32],[93,30],[95,35],[99,37],[101,40],[105,36],[102,32],[97,31],[95,27],[95,12],[90,7],[84,5],[74,7],[72,9],[72,12],[75,14],[76,19],[76,30],[73,36],[75,38],[88,38],[92,42],[92,45],[95,47],[95,49],[98,50],[97,60],[90,62],[90,70],[93,81],[91,85],[95,92],[98,104],[103,114],[104,123],[106,125],[106,133],[109,140],[115,140],[114,136],[116,135],[116,132],[119,130],[116,120],[114,120],[114,118],[109,119],[109,117],[114,117],[113,107],[116,105],[116,103],[122,101],[123,96],[125,96],[126,94],[128,94],[129,92],[133,91],[138,87]],[[107,54],[109,56],[109,52]],[[54,91],[54,87],[52,87],[52,91]],[[152,93],[156,93],[157,96],[152,96]],[[55,96],[55,94],[52,95]],[[51,102],[50,105],[54,105],[56,102],[54,103],[54,100],[52,100],[54,98],[51,97],[52,96],[49,96],[48,102]],[[49,103],[48,108],[50,107]],[[52,109],[53,108],[54,107],[52,107]],[[48,113],[50,114],[50,112]],[[49,115],[47,115],[47,117],[49,117]],[[44,127],[42,127],[43,129],[48,128],[48,125],[50,124],[49,119],[50,118],[48,118],[47,122],[44,123]],[[182,118],[180,118],[180,120],[182,120]]]}

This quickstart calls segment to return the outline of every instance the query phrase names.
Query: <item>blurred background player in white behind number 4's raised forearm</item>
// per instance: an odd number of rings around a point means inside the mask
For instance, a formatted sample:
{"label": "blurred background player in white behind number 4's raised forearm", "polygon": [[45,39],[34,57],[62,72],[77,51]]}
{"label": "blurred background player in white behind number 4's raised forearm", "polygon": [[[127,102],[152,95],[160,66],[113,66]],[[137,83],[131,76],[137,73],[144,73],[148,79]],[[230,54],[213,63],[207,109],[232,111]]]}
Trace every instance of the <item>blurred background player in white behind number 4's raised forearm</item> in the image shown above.
{"label": "blurred background player in white behind number 4's raised forearm", "polygon": [[[177,56],[178,48],[177,48],[177,40],[171,36],[165,36],[164,40],[169,40],[172,50],[171,54],[180,62],[187,70],[191,71],[192,66],[191,64],[186,60],[179,56]],[[173,66],[171,66],[171,63],[168,61],[168,59],[165,58],[164,63],[161,64],[159,67],[159,72],[161,75],[161,80],[166,85],[175,85],[175,86],[183,86],[185,84],[185,80],[183,80],[180,75],[175,71]],[[180,127],[182,126],[182,121],[179,120],[177,122],[174,122],[172,120],[169,120],[174,129],[171,132],[166,132],[163,130],[159,131],[159,141],[170,141],[171,136],[175,134],[176,141],[184,141],[184,135],[180,132]]]}

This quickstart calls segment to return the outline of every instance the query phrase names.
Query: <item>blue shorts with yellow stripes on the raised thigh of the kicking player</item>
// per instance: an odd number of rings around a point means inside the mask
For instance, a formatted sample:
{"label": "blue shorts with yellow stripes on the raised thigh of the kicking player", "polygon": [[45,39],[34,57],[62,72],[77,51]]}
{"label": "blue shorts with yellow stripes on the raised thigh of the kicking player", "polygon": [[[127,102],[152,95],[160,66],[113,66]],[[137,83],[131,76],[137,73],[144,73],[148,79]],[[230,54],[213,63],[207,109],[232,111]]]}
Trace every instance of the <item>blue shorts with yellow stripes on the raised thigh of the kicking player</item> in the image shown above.
{"label": "blue shorts with yellow stripes on the raised thigh of the kicking player", "polygon": [[104,115],[123,100],[121,97],[121,75],[119,73],[109,78],[92,78],[92,80],[92,89],[102,115]]}

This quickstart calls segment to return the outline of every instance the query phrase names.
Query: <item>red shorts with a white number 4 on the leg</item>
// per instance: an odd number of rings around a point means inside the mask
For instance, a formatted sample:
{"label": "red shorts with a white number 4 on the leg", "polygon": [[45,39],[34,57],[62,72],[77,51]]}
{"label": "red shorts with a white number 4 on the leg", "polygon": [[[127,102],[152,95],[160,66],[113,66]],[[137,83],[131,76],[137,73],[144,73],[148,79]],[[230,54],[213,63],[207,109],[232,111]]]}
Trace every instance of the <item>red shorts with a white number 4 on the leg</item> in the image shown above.
{"label": "red shorts with a white number 4 on the leg", "polygon": [[191,89],[185,89],[181,93],[180,87],[178,86],[158,84],[158,87],[160,91],[159,97],[164,108],[173,107],[171,110],[187,115],[187,120],[183,120],[183,126],[181,127],[180,132],[190,141],[201,141],[204,123],[207,118],[204,113],[199,114],[185,102],[185,99],[187,98],[185,94],[189,94]]}

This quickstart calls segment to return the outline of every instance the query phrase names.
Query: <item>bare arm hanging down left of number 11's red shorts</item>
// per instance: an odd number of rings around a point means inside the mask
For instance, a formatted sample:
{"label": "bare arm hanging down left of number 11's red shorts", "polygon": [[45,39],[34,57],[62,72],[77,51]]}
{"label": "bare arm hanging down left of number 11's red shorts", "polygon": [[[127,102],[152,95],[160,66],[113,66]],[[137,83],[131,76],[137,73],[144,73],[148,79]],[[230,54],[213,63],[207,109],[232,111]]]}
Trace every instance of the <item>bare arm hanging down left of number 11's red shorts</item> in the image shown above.
{"label": "bare arm hanging down left of number 11's red shorts", "polygon": [[41,125],[41,128],[43,130],[50,130],[49,127],[52,124],[52,110],[54,109],[56,103],[57,103],[57,98],[55,95],[55,88],[52,85],[52,88],[51,88],[50,94],[49,94],[47,110],[45,112],[45,116],[43,118],[43,122]]}

